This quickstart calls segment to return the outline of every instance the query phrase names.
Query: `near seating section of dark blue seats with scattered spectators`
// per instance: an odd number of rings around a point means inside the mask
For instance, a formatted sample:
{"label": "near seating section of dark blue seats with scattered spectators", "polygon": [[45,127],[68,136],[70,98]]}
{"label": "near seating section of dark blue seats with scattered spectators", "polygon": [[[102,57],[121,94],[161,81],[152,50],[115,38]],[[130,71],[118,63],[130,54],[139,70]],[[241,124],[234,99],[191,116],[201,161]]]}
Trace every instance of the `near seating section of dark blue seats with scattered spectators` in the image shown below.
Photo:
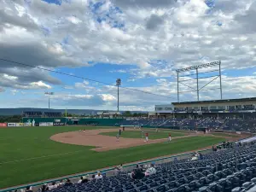
{"label": "near seating section of dark blue seats with scattered spectators", "polygon": [[[44,184],[39,191],[51,192],[241,192],[256,190],[256,144],[223,143],[212,152],[195,153],[182,160],[155,165],[137,165],[131,172],[116,167],[113,177],[80,177],[74,183]],[[32,192],[27,187],[26,192]]]}

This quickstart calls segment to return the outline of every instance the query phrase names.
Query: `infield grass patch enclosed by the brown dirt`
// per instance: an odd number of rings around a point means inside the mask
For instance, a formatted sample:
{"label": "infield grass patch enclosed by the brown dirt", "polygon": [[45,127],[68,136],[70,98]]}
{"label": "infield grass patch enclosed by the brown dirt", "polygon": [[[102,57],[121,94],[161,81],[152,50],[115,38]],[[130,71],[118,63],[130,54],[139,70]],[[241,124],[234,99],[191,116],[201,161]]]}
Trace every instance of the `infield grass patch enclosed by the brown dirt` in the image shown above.
{"label": "infield grass patch enclosed by the brown dirt", "polygon": [[[185,134],[180,133],[180,132],[174,132],[174,131],[122,131],[121,137],[124,138],[142,138],[145,137],[145,133],[148,132],[148,137],[149,139],[160,139],[160,138],[168,138],[169,133],[172,134],[172,137],[181,137],[184,136]],[[104,136],[111,136],[111,137],[116,137],[116,135],[119,133],[119,131],[112,131],[112,132],[102,132],[100,135]]]}

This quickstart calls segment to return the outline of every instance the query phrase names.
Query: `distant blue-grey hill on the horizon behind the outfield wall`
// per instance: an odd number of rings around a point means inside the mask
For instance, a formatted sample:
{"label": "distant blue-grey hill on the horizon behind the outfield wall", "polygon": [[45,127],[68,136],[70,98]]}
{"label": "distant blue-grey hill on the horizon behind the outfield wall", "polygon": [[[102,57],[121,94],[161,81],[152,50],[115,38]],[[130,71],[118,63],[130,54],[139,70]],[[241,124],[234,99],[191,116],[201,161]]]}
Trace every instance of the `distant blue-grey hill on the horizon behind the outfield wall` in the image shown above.
{"label": "distant blue-grey hill on the horizon behind the outfield wall", "polygon": [[[48,109],[48,108],[0,108],[0,116],[3,115],[21,115],[25,111],[40,111],[40,112],[61,112],[65,113],[66,109]],[[67,113],[78,114],[78,115],[89,115],[91,113],[96,113],[104,110],[94,110],[94,109],[67,109]],[[111,111],[111,110],[109,110]],[[122,112],[121,112],[122,113]],[[146,113],[142,111],[132,111],[131,113]]]}

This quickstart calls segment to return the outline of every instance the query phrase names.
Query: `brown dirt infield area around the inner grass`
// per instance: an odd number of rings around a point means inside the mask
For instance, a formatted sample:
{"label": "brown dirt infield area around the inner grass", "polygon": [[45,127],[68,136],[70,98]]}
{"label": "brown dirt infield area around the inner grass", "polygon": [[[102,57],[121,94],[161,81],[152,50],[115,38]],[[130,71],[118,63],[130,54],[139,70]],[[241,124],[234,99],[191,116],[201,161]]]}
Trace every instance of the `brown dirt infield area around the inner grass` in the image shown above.
{"label": "brown dirt infield area around the inner grass", "polygon": [[[113,132],[115,131],[118,134],[119,129],[101,129],[101,130],[85,130],[85,131],[72,131],[56,134],[50,137],[51,140],[60,143],[69,143],[75,145],[84,145],[84,146],[95,146],[91,150],[98,152],[113,150],[116,148],[130,148],[139,145],[151,144],[151,143],[162,143],[167,141],[166,138],[149,140],[148,143],[145,142],[144,138],[119,138],[117,142],[116,137],[103,136],[99,135],[101,132]],[[125,131],[135,131],[134,129],[125,129]],[[173,137],[172,140],[184,137],[195,137],[201,134],[191,134],[183,137]]]}

